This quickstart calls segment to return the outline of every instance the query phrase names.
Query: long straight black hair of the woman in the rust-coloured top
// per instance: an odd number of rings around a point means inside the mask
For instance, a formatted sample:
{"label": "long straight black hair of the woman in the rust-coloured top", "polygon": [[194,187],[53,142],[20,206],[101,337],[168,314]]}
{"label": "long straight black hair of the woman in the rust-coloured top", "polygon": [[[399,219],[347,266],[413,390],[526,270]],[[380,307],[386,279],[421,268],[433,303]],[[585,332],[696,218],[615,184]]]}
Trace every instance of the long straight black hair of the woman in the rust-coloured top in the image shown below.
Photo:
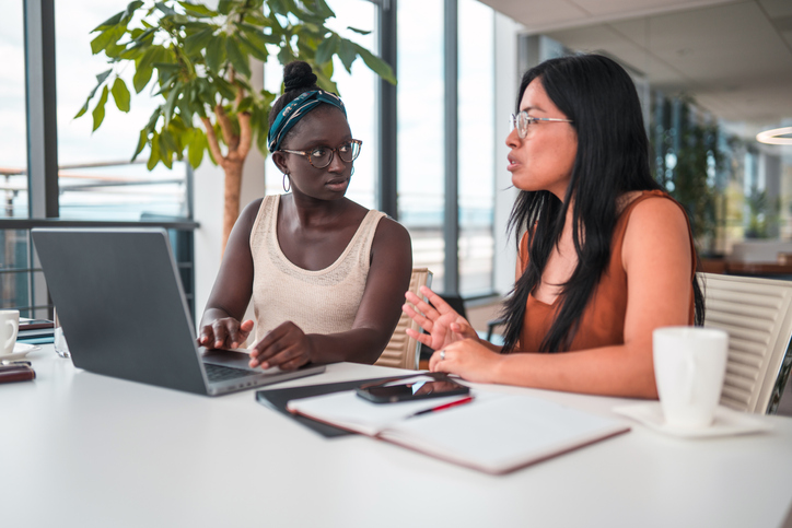
{"label": "long straight black hair of the woman in the rust-coloured top", "polygon": [[[578,152],[563,202],[546,190],[521,191],[509,218],[510,234],[527,230],[529,261],[504,306],[504,352],[514,350],[520,339],[528,295],[540,283],[550,253],[560,239],[571,199],[578,266],[569,281],[561,284],[556,319],[540,352],[569,350],[583,310],[610,261],[618,197],[629,191],[662,189],[649,169],[641,105],[624,68],[597,55],[547,60],[523,75],[517,112],[525,89],[536,79],[550,101],[573,121]],[[696,322],[700,325],[703,295],[695,278],[692,285]]]}

